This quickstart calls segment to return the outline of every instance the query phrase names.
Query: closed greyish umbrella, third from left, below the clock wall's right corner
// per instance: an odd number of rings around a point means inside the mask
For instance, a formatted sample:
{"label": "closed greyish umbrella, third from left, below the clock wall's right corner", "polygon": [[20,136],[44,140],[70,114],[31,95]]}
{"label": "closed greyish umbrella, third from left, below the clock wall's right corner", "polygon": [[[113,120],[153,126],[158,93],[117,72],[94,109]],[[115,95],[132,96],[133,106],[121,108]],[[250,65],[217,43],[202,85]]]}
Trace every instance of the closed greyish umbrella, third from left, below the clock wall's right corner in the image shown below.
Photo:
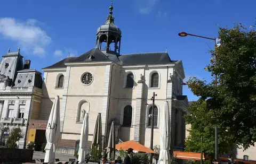
{"label": "closed greyish umbrella, third from left, below the clock wall's right corner", "polygon": [[101,127],[101,114],[98,114],[93,139],[92,139],[92,149],[98,149],[99,153],[102,150],[102,127]]}

